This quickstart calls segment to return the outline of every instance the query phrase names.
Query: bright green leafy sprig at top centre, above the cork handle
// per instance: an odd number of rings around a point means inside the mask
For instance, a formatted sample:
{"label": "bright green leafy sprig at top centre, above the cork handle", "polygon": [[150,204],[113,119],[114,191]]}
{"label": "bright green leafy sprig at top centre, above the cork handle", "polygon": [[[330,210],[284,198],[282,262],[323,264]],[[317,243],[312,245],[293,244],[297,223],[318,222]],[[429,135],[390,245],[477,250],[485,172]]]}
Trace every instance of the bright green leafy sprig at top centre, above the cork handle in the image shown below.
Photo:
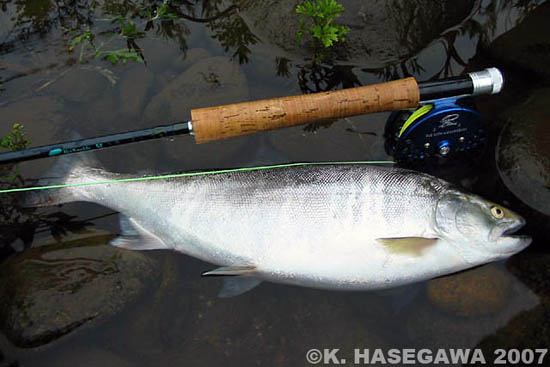
{"label": "bright green leafy sprig at top centre, above the cork handle", "polygon": [[[296,13],[301,14],[296,43],[300,44],[306,33],[313,37],[313,62],[321,61],[323,58],[320,45],[326,49],[332,47],[335,42],[345,41],[344,35],[349,32],[349,28],[333,23],[343,11],[344,7],[336,0],[306,0],[296,7]],[[309,27],[306,26],[305,16],[310,17],[313,22]]]}

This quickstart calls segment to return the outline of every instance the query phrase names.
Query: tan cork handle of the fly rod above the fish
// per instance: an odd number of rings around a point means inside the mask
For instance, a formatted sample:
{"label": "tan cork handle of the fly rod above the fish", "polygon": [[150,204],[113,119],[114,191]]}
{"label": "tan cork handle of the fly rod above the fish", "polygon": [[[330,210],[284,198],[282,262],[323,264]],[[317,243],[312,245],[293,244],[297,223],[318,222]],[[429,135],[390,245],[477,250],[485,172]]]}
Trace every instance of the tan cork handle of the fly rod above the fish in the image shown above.
{"label": "tan cork handle of the fly rod above the fish", "polygon": [[414,78],[358,88],[199,108],[191,111],[197,143],[372,112],[414,108]]}

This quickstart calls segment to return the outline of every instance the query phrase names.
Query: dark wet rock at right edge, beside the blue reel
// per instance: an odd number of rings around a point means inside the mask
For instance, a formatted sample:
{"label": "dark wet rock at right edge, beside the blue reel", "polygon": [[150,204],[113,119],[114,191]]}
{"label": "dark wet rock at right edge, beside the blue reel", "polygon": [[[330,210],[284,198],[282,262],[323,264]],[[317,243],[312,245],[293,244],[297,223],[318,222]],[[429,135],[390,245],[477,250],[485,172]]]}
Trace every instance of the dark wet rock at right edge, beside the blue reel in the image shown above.
{"label": "dark wet rock at right edge, beside the blue reel", "polygon": [[535,90],[508,109],[496,147],[497,168],[508,189],[531,208],[550,215],[550,89]]}

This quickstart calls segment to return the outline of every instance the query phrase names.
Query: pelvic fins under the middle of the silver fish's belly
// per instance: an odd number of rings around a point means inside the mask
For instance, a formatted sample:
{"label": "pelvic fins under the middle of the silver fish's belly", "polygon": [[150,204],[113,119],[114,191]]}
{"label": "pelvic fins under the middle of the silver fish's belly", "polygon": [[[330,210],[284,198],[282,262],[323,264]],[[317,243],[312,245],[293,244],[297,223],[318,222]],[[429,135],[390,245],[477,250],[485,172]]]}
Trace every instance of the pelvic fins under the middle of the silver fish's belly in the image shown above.
{"label": "pelvic fins under the middle of the silver fish's belly", "polygon": [[222,266],[202,273],[203,276],[224,276],[223,285],[218,297],[233,297],[248,292],[261,283],[261,280],[252,276],[255,266]]}

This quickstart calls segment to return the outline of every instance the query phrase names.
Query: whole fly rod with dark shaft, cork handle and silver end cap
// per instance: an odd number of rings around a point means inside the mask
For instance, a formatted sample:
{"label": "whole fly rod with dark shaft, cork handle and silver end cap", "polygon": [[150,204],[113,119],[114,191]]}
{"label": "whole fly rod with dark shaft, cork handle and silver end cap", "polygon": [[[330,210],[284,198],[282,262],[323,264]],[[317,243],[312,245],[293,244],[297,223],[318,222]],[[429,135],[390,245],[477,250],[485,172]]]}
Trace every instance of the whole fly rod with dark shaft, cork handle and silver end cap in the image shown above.
{"label": "whole fly rod with dark shaft, cork handle and silver end cap", "polygon": [[337,91],[280,97],[191,110],[191,121],[97,138],[0,153],[0,164],[108,148],[174,135],[194,135],[198,144],[323,120],[416,108],[453,96],[499,93],[497,68],[438,81],[405,78]]}

